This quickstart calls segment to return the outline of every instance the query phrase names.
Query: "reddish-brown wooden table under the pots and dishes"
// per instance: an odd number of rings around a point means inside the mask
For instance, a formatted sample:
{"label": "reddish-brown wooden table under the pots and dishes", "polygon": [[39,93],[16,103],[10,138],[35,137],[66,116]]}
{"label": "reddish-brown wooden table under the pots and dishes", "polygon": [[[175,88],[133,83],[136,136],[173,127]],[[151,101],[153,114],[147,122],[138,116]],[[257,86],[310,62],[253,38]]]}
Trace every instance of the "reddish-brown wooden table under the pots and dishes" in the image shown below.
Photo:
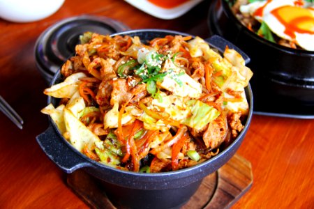
{"label": "reddish-brown wooden table under the pots and dishes", "polygon": [[[172,29],[208,38],[210,1],[186,15],[160,20],[117,0],[66,0],[57,13],[25,24],[0,20],[0,95],[24,118],[19,130],[0,113],[0,208],[87,208],[43,153],[36,135],[47,126],[40,113],[46,83],[33,47],[48,26],[66,17],[91,14],[123,22],[130,29]],[[253,167],[253,187],[234,208],[313,208],[314,121],[254,115],[238,154]]]}

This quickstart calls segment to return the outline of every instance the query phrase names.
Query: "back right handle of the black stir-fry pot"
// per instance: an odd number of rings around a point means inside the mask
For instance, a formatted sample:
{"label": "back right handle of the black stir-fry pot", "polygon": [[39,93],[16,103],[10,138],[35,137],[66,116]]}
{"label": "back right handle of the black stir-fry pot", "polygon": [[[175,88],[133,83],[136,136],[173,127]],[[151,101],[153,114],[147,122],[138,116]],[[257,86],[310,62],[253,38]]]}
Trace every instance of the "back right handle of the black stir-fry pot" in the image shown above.
{"label": "back right handle of the black stir-fry pot", "polygon": [[248,55],[246,55],[244,52],[241,51],[241,49],[239,49],[234,44],[232,44],[232,42],[225,40],[225,38],[214,35],[214,36],[211,36],[210,38],[207,38],[206,40],[207,42],[209,42],[210,45],[212,45],[213,47],[215,47],[222,53],[225,52],[226,46],[228,46],[230,49],[236,50],[237,52],[239,52],[239,54],[241,54],[246,64],[249,63],[251,60],[250,57],[248,57]]}

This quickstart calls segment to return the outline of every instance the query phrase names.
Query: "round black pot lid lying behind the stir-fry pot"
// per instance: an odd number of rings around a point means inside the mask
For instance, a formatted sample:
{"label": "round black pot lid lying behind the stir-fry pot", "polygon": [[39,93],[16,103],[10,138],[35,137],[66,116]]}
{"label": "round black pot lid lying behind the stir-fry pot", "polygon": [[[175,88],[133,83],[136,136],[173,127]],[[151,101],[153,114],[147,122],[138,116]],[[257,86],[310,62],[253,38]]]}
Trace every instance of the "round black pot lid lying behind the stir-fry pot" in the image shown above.
{"label": "round black pot lid lying behind the stir-fry pot", "polygon": [[129,30],[121,22],[108,17],[82,15],[70,17],[47,28],[39,36],[35,45],[35,58],[47,82],[50,82],[61,65],[75,52],[80,43],[80,35],[90,31],[100,34],[112,34]]}

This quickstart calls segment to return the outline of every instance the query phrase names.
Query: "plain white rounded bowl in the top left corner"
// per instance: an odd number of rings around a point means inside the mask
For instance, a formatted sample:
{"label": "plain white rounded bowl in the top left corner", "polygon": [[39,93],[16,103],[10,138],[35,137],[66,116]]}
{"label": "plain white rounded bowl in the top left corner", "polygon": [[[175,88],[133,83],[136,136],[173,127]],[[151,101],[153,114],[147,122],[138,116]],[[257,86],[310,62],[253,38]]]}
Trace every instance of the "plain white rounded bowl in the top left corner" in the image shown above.
{"label": "plain white rounded bowl in the top left corner", "polygon": [[57,12],[65,0],[0,0],[0,17],[11,22],[34,22]]}

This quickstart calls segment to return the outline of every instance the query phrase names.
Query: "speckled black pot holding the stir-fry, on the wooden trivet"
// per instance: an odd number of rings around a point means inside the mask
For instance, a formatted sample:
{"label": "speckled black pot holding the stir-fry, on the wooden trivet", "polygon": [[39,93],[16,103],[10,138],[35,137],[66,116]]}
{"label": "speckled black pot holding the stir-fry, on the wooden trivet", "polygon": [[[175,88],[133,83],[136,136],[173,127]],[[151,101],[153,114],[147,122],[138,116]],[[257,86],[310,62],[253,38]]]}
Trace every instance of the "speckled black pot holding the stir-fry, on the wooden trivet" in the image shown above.
{"label": "speckled black pot holding the stir-fry, on the wooden trivet", "polygon": [[[141,40],[151,40],[165,35],[188,36],[176,31],[145,29],[126,31],[119,35],[139,36]],[[114,34],[112,35],[114,36]],[[211,45],[224,49],[232,45],[217,36],[207,39]],[[51,84],[61,82],[59,72]],[[105,192],[110,201],[118,208],[179,208],[190,199],[202,183],[202,179],[223,166],[241,145],[253,113],[253,95],[251,86],[246,88],[246,96],[250,105],[244,130],[230,146],[221,150],[215,157],[195,167],[164,173],[135,173],[121,171],[89,159],[78,152],[66,141],[56,125],[50,120],[50,127],[36,137],[38,144],[50,159],[66,173],[83,169],[91,176],[100,179],[105,185]],[[57,104],[55,98],[48,98],[48,103]]]}

